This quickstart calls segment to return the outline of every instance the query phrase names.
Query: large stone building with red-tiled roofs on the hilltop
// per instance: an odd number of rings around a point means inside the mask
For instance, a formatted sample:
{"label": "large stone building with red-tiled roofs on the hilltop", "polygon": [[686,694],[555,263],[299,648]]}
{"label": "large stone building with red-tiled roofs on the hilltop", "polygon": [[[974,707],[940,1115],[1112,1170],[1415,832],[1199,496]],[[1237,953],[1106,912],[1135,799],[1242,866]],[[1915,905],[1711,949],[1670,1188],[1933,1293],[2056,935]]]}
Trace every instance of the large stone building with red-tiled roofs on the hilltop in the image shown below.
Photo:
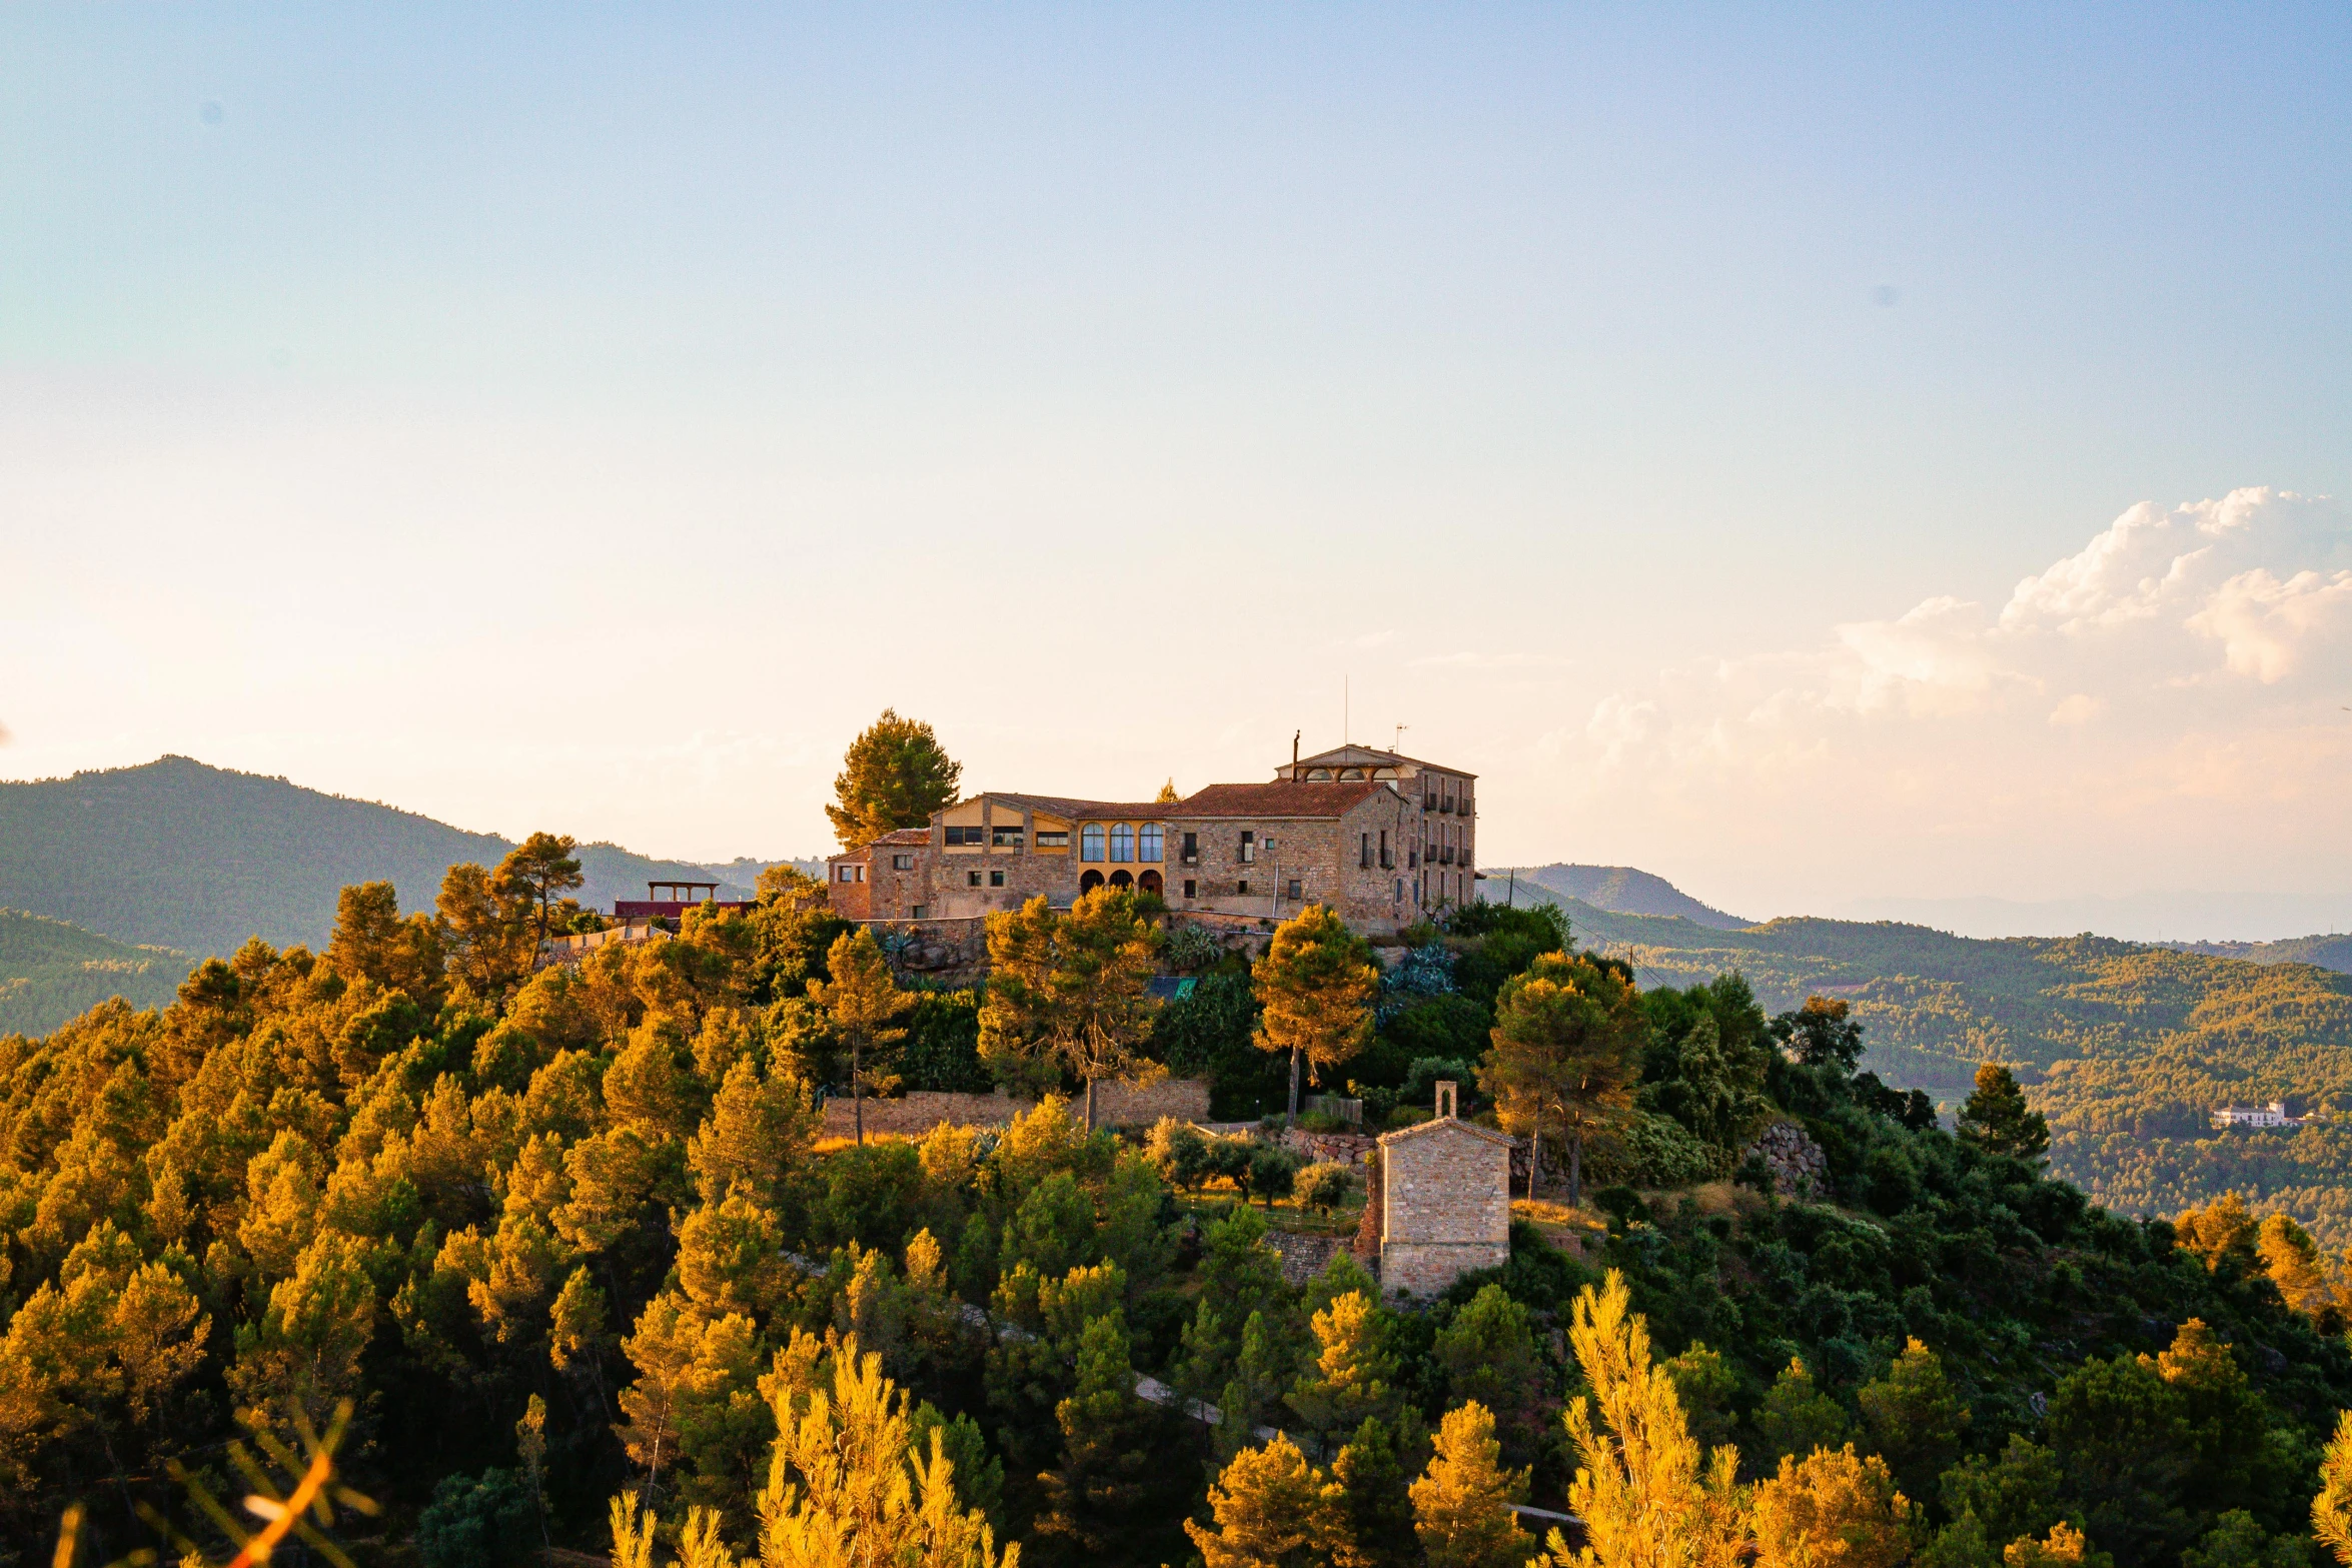
{"label": "large stone building with red-tiled roofs on the hilltop", "polygon": [[849,919],[969,919],[1122,886],[1171,910],[1282,919],[1324,903],[1357,929],[1397,929],[1475,898],[1470,788],[1470,773],[1343,745],[1178,802],[985,792],[833,856],[828,879]]}

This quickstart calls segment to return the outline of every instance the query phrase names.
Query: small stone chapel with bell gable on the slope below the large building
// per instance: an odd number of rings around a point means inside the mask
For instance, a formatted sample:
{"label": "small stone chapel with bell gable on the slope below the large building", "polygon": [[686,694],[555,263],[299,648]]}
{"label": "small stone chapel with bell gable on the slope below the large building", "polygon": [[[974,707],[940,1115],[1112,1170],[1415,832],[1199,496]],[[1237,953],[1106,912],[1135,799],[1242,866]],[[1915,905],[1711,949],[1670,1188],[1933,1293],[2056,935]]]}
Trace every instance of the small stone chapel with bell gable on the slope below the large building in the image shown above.
{"label": "small stone chapel with bell gable on the slope below the large building", "polygon": [[1381,1135],[1381,1288],[1437,1295],[1472,1269],[1510,1262],[1512,1138],[1458,1121],[1454,1084],[1437,1086],[1437,1119]]}

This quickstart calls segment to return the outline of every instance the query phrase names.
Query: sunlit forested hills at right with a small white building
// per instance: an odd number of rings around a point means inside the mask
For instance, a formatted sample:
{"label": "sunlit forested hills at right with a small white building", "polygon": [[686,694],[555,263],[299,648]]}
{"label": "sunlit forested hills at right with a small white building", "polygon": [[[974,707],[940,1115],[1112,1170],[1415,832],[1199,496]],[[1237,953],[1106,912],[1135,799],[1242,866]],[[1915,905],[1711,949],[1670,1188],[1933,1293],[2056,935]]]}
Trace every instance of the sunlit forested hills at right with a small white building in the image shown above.
{"label": "sunlit forested hills at right with a small white building", "polygon": [[[2098,936],[1978,940],[1839,919],[1710,931],[1562,903],[1578,938],[1632,959],[1644,987],[1738,969],[1766,1009],[1842,997],[1867,1065],[1945,1105],[1978,1063],[2016,1065],[2051,1119],[2053,1173],[2110,1208],[2176,1213],[2241,1192],[2352,1244],[2347,973]],[[2232,1100],[2288,1100],[2314,1119],[2216,1133],[2209,1112]]]}

